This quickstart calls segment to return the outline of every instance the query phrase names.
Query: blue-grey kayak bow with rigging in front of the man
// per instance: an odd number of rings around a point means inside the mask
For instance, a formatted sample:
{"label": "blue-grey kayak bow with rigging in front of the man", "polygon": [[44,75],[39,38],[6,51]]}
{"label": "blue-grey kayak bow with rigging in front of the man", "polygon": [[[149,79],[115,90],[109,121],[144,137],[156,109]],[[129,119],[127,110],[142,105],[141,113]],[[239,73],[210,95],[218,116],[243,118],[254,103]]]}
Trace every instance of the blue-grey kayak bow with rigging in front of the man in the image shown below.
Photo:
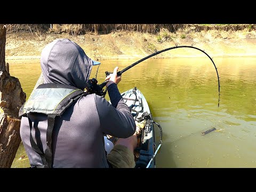
{"label": "blue-grey kayak bow with rigging in front of the man", "polygon": [[[135,123],[138,125],[141,122],[146,122],[141,131],[141,135],[138,136],[137,148],[134,150],[135,168],[155,168],[155,155],[159,147],[162,145],[162,128],[158,123],[153,121],[148,102],[137,87],[127,90],[121,93],[121,95],[126,105],[131,108],[131,113],[135,119]],[[161,131],[161,141],[157,150],[155,150],[154,123]],[[109,140],[111,140],[111,138]]]}

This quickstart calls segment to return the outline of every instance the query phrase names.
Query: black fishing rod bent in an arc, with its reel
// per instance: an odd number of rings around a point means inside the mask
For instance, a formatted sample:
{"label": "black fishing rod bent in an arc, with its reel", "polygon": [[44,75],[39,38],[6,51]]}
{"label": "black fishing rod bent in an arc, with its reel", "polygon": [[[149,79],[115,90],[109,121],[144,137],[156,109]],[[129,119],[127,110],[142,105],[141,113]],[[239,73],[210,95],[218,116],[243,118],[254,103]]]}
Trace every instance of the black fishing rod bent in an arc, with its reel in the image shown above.
{"label": "black fishing rod bent in an arc, with its reel", "polygon": [[[218,107],[219,107],[219,105],[220,105],[220,79],[219,79],[219,73],[218,73],[217,67],[216,67],[215,63],[213,62],[212,58],[205,51],[203,51],[203,50],[201,50],[201,49],[199,49],[197,47],[194,47],[193,45],[192,46],[188,46],[188,45],[178,46],[176,44],[176,46],[174,46],[174,47],[170,47],[170,48],[167,48],[167,49],[164,49],[164,50],[161,50],[161,51],[157,51],[157,52],[155,52],[153,54],[150,54],[147,57],[145,57],[145,58],[143,58],[143,59],[141,59],[141,60],[139,60],[137,62],[134,62],[132,65],[124,68],[123,70],[118,71],[117,72],[117,76],[121,76],[126,70],[134,67],[138,63],[140,63],[142,61],[145,61],[146,59],[151,58],[151,57],[153,57],[153,56],[155,56],[155,55],[157,55],[159,53],[162,53],[162,52],[165,52],[165,51],[169,51],[169,50],[172,50],[172,49],[184,48],[184,47],[199,50],[199,51],[203,52],[204,54],[206,54],[207,57],[209,57],[209,59],[212,61],[213,65],[215,67],[216,73],[217,73],[217,77],[218,77],[218,91],[219,91]],[[111,73],[106,71],[105,74],[106,74],[106,76],[108,76]],[[98,94],[100,96],[105,97],[107,90],[104,91],[103,87],[106,86],[106,84],[108,83],[108,80],[103,82],[103,83],[101,83],[100,85],[98,85],[97,83],[98,83],[97,79],[95,79],[95,78],[89,79],[89,81],[87,81],[86,89],[88,90],[89,94],[95,93],[95,94]]]}

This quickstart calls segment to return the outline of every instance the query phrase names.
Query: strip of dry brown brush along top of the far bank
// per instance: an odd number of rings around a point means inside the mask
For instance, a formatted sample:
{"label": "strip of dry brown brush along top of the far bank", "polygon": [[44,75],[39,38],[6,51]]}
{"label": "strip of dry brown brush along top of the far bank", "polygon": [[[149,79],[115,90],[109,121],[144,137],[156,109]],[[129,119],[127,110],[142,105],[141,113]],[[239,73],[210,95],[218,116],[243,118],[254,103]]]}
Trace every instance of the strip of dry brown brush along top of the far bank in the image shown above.
{"label": "strip of dry brown brush along top of the far bank", "polygon": [[[162,29],[171,33],[186,30],[200,32],[202,30],[255,30],[256,24],[7,24],[7,33],[30,31],[31,33],[68,33],[84,35],[86,33],[109,34],[112,31],[139,31],[158,34]],[[184,36],[183,36],[184,37]]]}

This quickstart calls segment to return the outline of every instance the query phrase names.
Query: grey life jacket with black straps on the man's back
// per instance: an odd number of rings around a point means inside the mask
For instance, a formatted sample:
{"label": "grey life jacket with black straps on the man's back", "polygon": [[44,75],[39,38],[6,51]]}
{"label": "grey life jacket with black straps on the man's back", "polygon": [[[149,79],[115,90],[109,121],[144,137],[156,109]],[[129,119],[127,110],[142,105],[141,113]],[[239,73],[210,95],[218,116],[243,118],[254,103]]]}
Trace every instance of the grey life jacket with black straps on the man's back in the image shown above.
{"label": "grey life jacket with black straps on the man's back", "polygon": [[[30,127],[30,143],[33,150],[40,155],[43,165],[36,166],[37,168],[51,168],[53,166],[52,159],[52,131],[56,116],[61,116],[64,111],[79,98],[87,95],[83,90],[77,89],[74,86],[47,83],[41,84],[32,93],[29,99],[21,106],[19,116],[28,117]],[[34,141],[31,129],[32,122],[28,114],[40,113],[47,115],[47,130],[46,130],[46,149],[42,151]]]}

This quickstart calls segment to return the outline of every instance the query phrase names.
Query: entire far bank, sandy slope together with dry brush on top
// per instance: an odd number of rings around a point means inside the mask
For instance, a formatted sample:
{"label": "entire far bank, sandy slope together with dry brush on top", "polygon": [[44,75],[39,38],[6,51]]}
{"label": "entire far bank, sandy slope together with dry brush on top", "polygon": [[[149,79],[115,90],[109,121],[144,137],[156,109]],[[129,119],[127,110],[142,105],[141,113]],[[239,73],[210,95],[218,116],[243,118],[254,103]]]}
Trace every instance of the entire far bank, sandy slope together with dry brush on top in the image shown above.
{"label": "entire far bank, sandy slope together with dry brush on top", "polygon": [[[69,38],[97,60],[141,58],[175,45],[193,45],[212,57],[255,57],[255,29],[256,24],[9,24],[5,54],[39,59],[46,44]],[[174,50],[154,58],[200,55]]]}

